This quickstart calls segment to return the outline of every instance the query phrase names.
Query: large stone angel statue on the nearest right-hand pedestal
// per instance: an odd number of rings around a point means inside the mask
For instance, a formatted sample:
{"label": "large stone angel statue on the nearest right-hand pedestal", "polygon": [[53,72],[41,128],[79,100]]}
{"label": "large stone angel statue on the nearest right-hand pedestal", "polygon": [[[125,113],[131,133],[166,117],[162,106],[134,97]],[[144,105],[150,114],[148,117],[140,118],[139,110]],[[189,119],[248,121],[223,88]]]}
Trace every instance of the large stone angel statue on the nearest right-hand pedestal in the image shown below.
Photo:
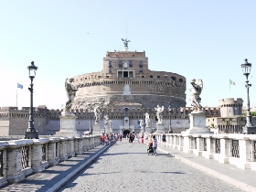
{"label": "large stone angel statue on the nearest right-hand pedestal", "polygon": [[191,101],[191,105],[193,106],[193,111],[198,112],[202,110],[202,106],[200,104],[200,94],[203,90],[203,80],[198,79],[196,81],[195,79],[193,79],[190,83],[192,85],[192,88],[189,89],[189,91],[191,91],[189,100]]}

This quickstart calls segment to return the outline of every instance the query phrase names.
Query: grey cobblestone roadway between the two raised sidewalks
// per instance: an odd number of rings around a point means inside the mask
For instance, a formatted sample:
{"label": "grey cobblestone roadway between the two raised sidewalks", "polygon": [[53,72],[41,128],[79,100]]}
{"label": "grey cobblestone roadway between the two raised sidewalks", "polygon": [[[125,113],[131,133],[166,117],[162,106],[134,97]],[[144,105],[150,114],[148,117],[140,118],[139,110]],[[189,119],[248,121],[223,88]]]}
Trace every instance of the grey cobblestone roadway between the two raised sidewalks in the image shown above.
{"label": "grey cobblestone roadway between the two raised sidewalks", "polygon": [[147,155],[146,149],[117,142],[60,191],[242,191],[172,155]]}

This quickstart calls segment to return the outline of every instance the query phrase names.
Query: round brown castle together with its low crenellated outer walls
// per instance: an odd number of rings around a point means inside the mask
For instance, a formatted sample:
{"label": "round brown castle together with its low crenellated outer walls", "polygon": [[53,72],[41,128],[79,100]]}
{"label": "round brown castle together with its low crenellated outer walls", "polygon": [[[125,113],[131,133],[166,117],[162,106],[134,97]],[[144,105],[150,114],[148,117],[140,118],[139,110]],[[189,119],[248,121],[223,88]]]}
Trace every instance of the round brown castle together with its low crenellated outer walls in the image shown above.
{"label": "round brown castle together with its low crenellated outer walls", "polygon": [[[163,126],[180,133],[189,126],[186,107],[187,80],[174,72],[149,69],[149,60],[142,51],[128,50],[124,39],[123,51],[108,51],[103,58],[103,69],[73,77],[78,90],[71,107],[76,115],[76,129],[80,133],[93,129],[96,123],[95,104],[101,105],[98,121],[102,129],[105,116],[112,120],[113,133],[141,132],[140,120],[147,112],[149,126],[155,130],[155,108],[164,106]],[[64,88],[63,88],[64,89]],[[35,97],[37,97],[35,95]],[[23,135],[27,130],[29,107],[0,109],[0,136]],[[49,110],[46,105],[34,108],[35,129],[38,134],[55,134],[60,129],[62,110]],[[219,108],[204,108],[207,117],[219,116]]]}

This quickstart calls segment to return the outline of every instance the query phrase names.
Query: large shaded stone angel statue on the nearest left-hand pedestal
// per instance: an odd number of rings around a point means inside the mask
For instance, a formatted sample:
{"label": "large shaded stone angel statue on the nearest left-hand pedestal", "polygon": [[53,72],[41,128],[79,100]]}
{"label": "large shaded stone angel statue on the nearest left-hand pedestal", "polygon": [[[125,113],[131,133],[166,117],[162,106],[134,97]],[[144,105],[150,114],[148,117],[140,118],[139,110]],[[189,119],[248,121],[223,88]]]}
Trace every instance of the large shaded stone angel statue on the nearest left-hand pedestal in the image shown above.
{"label": "large shaded stone angel statue on the nearest left-hand pedestal", "polygon": [[74,99],[76,97],[76,91],[79,91],[71,84],[73,80],[74,80],[73,78],[67,78],[65,81],[65,89],[68,96],[68,101],[66,102],[66,106],[64,108],[65,112],[70,111],[72,103],[74,102]]}

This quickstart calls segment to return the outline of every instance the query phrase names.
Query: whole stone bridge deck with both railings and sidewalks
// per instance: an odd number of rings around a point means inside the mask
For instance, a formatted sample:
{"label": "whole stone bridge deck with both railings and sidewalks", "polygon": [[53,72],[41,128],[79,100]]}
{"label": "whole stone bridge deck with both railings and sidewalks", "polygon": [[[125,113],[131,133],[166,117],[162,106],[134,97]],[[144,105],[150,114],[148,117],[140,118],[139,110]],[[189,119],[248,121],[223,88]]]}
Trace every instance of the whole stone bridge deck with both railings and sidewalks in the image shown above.
{"label": "whole stone bridge deck with both railings and sidewalks", "polygon": [[155,136],[157,156],[100,135],[1,142],[0,191],[256,191],[255,135]]}

